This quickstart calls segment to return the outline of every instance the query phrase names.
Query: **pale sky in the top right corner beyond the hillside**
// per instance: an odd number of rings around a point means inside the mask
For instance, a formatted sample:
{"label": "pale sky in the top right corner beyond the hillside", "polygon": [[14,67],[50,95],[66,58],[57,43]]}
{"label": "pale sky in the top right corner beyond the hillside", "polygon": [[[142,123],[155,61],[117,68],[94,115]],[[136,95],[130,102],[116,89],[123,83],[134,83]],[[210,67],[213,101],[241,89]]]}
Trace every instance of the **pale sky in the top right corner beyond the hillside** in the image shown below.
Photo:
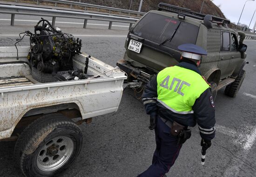
{"label": "pale sky in the top right corner beyond the hillside", "polygon": [[[239,23],[249,25],[253,13],[256,9],[256,1],[246,1],[247,0],[212,0],[212,2],[216,6],[220,5],[220,9],[222,13],[224,13],[225,17],[229,19],[231,22],[236,22],[236,24],[243,10],[243,14],[241,16]],[[244,6],[245,2],[246,4]],[[254,26],[255,22],[256,13],[254,14],[254,17],[251,21],[250,28]]]}

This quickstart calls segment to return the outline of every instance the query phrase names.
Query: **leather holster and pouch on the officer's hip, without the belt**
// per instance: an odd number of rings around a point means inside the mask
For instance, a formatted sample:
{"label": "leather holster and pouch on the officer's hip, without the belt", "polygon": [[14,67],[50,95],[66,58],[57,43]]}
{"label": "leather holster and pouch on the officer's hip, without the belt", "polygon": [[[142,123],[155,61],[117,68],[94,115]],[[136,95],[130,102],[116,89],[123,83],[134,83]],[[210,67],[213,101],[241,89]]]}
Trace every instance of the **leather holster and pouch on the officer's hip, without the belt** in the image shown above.
{"label": "leather holster and pouch on the officer's hip, without the belt", "polygon": [[171,134],[173,136],[177,136],[178,139],[178,145],[182,145],[186,142],[187,139],[191,136],[191,130],[185,130],[185,126],[182,126],[181,124],[177,122],[173,122],[173,125],[171,126]]}

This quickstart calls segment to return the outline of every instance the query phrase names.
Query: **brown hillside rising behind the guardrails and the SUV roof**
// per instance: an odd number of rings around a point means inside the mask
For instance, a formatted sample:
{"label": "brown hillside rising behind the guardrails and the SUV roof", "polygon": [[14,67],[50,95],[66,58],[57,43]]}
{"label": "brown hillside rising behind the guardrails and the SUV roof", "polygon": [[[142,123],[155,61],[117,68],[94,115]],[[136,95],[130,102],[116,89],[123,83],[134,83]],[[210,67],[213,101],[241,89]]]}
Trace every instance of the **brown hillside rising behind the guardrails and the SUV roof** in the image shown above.
{"label": "brown hillside rising behind the guardrails and the SUV roof", "polygon": [[[141,0],[132,0],[131,10],[138,11],[140,1]],[[158,3],[164,2],[174,6],[189,8],[195,12],[200,12],[202,1],[203,0],[143,0],[141,11],[148,12],[149,10],[156,10]],[[129,9],[131,0],[81,0],[81,2],[101,6]],[[204,1],[202,13],[225,18],[221,10],[213,2],[211,2],[211,0]]]}

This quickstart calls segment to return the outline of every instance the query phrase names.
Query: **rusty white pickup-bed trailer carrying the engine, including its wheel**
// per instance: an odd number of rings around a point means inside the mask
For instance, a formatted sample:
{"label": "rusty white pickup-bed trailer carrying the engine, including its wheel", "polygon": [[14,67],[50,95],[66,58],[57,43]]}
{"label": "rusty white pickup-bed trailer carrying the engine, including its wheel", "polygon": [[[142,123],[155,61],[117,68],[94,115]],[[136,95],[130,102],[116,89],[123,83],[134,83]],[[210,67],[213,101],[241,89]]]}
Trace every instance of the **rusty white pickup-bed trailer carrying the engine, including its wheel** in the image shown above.
{"label": "rusty white pickup-bed trailer carrying the engine, including its wheel", "polygon": [[25,176],[47,177],[81,151],[78,124],[117,111],[127,76],[82,53],[73,57],[73,66],[87,66],[91,78],[40,83],[31,76],[29,49],[19,47],[16,60],[15,47],[0,47],[0,140],[16,140],[15,161]]}

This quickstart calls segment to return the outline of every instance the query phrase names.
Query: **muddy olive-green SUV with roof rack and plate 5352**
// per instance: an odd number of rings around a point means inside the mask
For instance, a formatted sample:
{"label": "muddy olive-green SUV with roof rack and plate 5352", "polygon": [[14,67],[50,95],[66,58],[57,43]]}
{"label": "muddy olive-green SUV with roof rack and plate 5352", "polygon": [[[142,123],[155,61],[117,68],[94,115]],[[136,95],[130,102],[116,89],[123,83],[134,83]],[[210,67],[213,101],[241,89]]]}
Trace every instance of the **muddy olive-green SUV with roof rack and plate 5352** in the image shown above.
{"label": "muddy olive-green SUV with roof rack and plate 5352", "polygon": [[139,19],[129,30],[124,58],[117,66],[128,74],[127,85],[143,88],[150,76],[177,64],[180,44],[196,44],[204,48],[199,69],[211,84],[214,96],[226,86],[225,94],[235,97],[245,71],[247,46],[245,34],[227,27],[227,19],[196,13],[190,9],[164,3]]}

